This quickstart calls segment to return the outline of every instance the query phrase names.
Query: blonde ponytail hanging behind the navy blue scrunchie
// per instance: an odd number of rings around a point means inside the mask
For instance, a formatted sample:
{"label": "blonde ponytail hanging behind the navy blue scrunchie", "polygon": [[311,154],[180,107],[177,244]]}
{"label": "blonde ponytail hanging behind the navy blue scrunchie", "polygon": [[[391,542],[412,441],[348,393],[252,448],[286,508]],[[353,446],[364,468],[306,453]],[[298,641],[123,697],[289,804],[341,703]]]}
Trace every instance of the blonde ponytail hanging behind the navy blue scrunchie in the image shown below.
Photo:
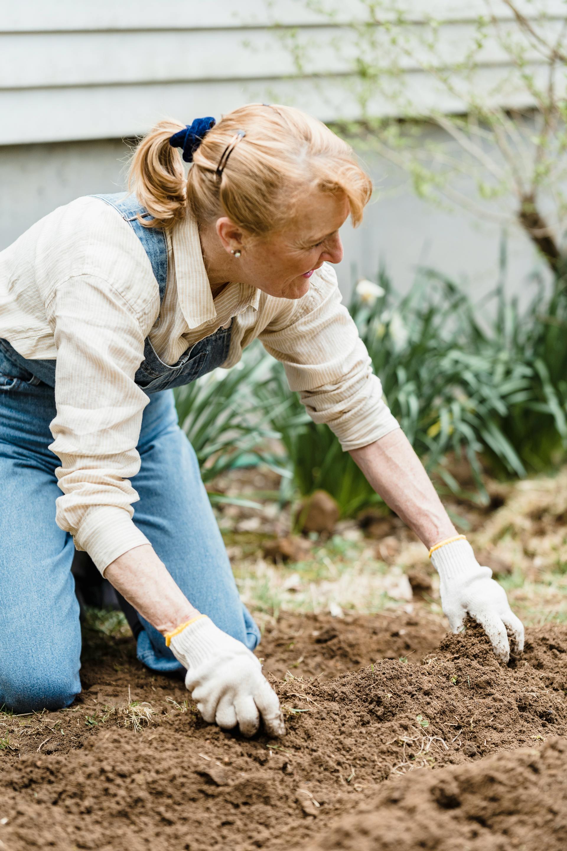
{"label": "blonde ponytail hanging behind the navy blue scrunchie", "polygon": [[128,174],[128,189],[154,217],[141,220],[146,227],[168,229],[187,211],[187,179],[177,148],[169,144],[174,133],[184,129],[177,121],[161,121],[150,130],[134,151]]}

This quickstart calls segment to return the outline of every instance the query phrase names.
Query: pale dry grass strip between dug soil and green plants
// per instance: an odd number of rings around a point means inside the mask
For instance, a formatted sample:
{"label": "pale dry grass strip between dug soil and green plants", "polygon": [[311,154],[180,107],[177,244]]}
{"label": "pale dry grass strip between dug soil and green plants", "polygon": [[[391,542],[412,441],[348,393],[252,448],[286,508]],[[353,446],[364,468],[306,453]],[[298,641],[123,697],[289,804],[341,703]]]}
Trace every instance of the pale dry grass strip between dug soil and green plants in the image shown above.
{"label": "pale dry grass strip between dug soil and green plants", "polygon": [[[499,580],[526,625],[567,622],[567,467],[556,477],[534,477],[494,489],[505,499],[496,511],[452,506],[462,517],[462,529],[487,561],[491,556],[509,565],[510,574]],[[234,518],[233,528],[239,523]],[[251,518],[244,523],[251,525]],[[258,557],[268,531],[265,520],[256,545],[251,533],[244,545],[239,543],[242,535],[227,533],[239,590],[260,622],[277,617],[281,609],[340,616],[343,610],[371,614],[412,605],[406,572],[420,568],[431,573],[425,547],[411,540],[405,529],[380,542],[366,540],[354,523],[341,526],[341,534],[315,544],[305,561],[283,565]],[[428,608],[440,619],[435,574],[432,583]]]}

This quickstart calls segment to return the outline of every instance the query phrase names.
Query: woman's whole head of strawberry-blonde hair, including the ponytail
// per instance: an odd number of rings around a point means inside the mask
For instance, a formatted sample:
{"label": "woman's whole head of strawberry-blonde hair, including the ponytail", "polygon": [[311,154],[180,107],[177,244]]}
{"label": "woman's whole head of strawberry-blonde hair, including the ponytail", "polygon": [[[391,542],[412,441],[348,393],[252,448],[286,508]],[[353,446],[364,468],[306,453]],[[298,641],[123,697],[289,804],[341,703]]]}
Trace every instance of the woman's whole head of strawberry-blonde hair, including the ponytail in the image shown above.
{"label": "woman's whole head of strawberry-blonde hair, including the ponytail", "polygon": [[[185,177],[170,137],[184,125],[162,121],[139,142],[128,186],[154,216],[146,226],[171,228],[188,209],[201,223],[226,215],[258,237],[280,231],[292,219],[306,188],[348,199],[360,224],[372,185],[352,148],[325,124],[292,106],[241,106],[205,136]],[[237,130],[246,136],[230,153],[222,175],[218,163]]]}

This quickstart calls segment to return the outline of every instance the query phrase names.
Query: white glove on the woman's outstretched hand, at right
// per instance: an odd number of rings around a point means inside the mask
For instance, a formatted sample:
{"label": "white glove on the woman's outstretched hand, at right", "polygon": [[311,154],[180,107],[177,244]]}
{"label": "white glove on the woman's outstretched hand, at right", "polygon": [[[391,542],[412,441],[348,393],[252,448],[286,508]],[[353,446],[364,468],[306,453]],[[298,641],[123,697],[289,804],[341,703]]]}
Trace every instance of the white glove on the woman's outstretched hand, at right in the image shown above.
{"label": "white glove on the woman's outstretched hand, at right", "polygon": [[506,591],[491,579],[490,568],[482,568],[468,540],[449,539],[432,547],[431,561],[439,574],[441,606],[453,632],[462,631],[469,614],[485,630],[498,659],[510,658],[509,633],[513,649],[524,649],[524,626],[508,605]]}

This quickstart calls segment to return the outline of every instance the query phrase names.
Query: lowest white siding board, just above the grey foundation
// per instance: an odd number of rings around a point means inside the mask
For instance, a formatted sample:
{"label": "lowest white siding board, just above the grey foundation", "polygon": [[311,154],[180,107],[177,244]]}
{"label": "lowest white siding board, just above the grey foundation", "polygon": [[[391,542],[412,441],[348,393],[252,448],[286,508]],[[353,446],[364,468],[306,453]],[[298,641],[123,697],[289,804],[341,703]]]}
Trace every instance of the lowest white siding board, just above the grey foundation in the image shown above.
{"label": "lowest white siding board, just above the grey foundation", "polygon": [[[534,66],[532,71],[543,83],[544,69]],[[490,94],[499,77],[506,80],[505,67],[479,69],[475,91],[479,95]],[[408,73],[406,94],[423,111],[464,109],[462,101],[439,89],[434,79],[422,72]],[[3,144],[133,136],[145,133],[163,117],[189,123],[196,115],[218,117],[242,103],[262,100],[292,103],[325,121],[354,119],[360,112],[348,81],[340,77],[266,79],[244,85],[233,80],[86,89],[11,89],[0,91],[0,114],[5,118]],[[531,102],[529,94],[521,89],[510,89],[503,100],[504,106],[514,108],[530,106]],[[376,115],[392,114],[391,101],[380,92],[371,99],[369,108]]]}

